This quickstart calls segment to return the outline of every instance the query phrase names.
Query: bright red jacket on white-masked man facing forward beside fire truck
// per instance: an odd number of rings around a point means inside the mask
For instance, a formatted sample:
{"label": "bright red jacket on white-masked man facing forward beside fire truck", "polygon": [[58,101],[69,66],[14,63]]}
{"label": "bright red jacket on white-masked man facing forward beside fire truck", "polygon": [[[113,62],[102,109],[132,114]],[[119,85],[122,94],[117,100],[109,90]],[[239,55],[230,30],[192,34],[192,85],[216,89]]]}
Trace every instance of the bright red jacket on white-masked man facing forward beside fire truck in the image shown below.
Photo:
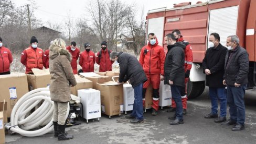
{"label": "bright red jacket on white-masked man facing forward beside fire truck", "polygon": [[[144,50],[147,53],[144,54]],[[161,74],[164,75],[164,62],[165,62],[165,52],[164,48],[158,45],[156,39],[155,45],[151,45],[150,42],[141,49],[140,64],[146,74]]]}

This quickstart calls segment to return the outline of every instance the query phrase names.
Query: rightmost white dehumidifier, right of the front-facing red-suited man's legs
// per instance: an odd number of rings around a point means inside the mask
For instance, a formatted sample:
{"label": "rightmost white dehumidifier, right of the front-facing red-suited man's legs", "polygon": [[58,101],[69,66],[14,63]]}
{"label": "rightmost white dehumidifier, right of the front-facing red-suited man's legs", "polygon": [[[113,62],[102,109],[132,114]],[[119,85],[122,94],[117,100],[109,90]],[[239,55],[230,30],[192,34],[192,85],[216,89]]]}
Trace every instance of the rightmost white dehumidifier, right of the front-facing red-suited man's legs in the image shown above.
{"label": "rightmost white dehumidifier, right of the front-facing red-suited man's legs", "polygon": [[163,109],[163,106],[172,104],[172,93],[170,93],[170,86],[164,85],[164,81],[161,81],[159,86],[159,106]]}

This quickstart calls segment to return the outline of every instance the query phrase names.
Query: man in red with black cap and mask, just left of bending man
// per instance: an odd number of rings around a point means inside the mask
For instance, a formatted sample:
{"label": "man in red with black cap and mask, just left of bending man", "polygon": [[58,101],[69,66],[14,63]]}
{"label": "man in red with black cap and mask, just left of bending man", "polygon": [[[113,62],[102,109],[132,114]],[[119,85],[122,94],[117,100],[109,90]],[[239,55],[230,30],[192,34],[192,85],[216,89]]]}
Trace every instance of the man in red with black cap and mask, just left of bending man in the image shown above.
{"label": "man in red with black cap and mask, just left of bending man", "polygon": [[110,60],[111,52],[111,50],[108,50],[106,41],[101,42],[101,50],[97,53],[96,56],[96,63],[100,65],[100,72],[112,71],[112,64],[114,61]]}

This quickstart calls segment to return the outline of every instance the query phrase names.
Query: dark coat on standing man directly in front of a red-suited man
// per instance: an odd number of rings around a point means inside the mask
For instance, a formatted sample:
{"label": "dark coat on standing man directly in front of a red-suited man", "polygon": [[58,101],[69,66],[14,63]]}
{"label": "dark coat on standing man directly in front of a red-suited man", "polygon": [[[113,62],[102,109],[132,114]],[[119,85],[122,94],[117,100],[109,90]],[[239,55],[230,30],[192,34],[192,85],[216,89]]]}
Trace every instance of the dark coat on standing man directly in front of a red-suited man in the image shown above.
{"label": "dark coat on standing man directly in front of a red-suited man", "polygon": [[167,45],[168,52],[164,63],[164,84],[169,85],[169,80],[173,81],[172,86],[185,87],[184,58],[186,45],[182,42],[176,42],[173,45]]}

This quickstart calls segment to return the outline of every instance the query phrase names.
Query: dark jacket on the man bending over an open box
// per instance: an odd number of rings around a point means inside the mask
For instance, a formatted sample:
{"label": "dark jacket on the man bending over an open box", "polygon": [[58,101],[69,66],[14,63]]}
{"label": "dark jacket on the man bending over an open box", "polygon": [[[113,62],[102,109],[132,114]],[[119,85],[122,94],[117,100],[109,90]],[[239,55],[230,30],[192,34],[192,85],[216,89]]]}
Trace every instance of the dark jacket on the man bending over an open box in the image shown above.
{"label": "dark jacket on the man bending over an open box", "polygon": [[120,52],[118,55],[120,67],[119,82],[126,82],[130,79],[132,87],[147,81],[147,77],[141,64],[133,55]]}

